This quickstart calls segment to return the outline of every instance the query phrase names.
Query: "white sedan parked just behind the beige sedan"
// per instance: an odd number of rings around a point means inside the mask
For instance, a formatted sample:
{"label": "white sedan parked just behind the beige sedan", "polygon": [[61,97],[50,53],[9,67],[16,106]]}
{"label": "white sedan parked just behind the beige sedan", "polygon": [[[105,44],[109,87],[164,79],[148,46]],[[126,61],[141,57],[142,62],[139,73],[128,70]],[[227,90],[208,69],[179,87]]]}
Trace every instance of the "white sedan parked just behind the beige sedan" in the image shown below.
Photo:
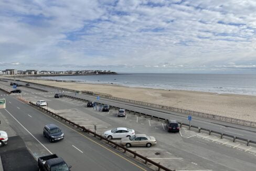
{"label": "white sedan parked just behind the beige sedan", "polygon": [[111,140],[112,138],[131,137],[135,135],[135,131],[127,127],[116,127],[113,130],[105,131],[104,136]]}

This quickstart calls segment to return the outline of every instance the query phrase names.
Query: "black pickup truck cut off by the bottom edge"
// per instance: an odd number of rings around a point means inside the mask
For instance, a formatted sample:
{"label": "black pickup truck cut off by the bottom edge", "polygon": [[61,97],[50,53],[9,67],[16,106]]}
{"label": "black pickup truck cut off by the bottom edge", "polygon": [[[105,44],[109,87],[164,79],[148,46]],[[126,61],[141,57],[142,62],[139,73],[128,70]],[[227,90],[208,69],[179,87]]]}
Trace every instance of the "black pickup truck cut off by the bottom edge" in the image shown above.
{"label": "black pickup truck cut off by the bottom edge", "polygon": [[71,168],[71,166],[68,166],[67,163],[56,154],[39,157],[37,165],[40,171],[70,171]]}

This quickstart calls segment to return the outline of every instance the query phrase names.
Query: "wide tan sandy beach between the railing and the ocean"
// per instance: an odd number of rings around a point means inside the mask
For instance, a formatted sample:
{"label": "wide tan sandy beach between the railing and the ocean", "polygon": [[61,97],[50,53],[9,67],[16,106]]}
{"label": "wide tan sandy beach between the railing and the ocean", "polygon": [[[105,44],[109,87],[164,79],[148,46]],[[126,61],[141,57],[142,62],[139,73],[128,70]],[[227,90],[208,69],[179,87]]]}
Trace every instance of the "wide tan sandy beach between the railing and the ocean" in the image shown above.
{"label": "wide tan sandy beach between the railing and the ocean", "polygon": [[87,84],[46,80],[24,80],[48,86],[110,94],[113,97],[155,103],[175,108],[217,114],[256,122],[256,97],[195,91],[129,88],[114,84]]}

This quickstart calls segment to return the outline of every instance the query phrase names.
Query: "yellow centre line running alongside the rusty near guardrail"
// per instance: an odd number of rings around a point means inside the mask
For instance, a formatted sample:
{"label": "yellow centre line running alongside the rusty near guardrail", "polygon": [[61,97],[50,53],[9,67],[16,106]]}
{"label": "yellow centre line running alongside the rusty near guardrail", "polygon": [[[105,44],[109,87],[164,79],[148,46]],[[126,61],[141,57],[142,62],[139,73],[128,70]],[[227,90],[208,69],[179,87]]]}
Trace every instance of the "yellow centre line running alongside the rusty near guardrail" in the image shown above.
{"label": "yellow centre line running alongside the rusty near guardrail", "polygon": [[[29,106],[30,106],[30,105],[29,105]],[[33,107],[32,107],[32,106],[30,106],[30,108],[33,108]],[[37,109],[35,109],[35,108],[33,108],[33,109],[34,109],[34,110],[37,110]],[[39,110],[37,110],[37,111],[38,111],[38,112],[40,112],[40,113],[42,113],[42,112],[41,112],[41,111],[39,111]],[[63,123],[61,123],[60,121],[58,121],[58,120],[56,120],[56,119],[52,118],[51,116],[48,116],[48,115],[47,115],[47,114],[45,114],[45,113],[42,113],[42,114],[44,114],[45,116],[47,116],[47,117],[51,118],[52,120],[55,120],[56,122],[60,123],[61,125],[66,126],[68,129],[70,129],[70,130],[72,130],[72,131],[74,131],[74,132],[76,132],[76,133],[80,134],[80,135],[81,135],[81,136],[83,136],[84,138],[87,138],[87,139],[88,139],[88,140],[90,140],[91,142],[93,142],[93,143],[95,143],[95,144],[97,144],[97,145],[101,146],[102,148],[106,149],[107,151],[109,151],[109,152],[111,152],[111,153],[113,153],[113,154],[115,154],[115,155],[119,156],[120,158],[122,158],[122,159],[124,159],[125,161],[127,161],[127,162],[129,162],[129,163],[133,164],[134,166],[136,166],[136,167],[138,167],[138,168],[140,168],[140,169],[142,169],[142,170],[144,170],[144,171],[147,171],[146,169],[142,168],[141,166],[137,165],[136,163],[133,163],[133,162],[132,162],[132,161],[130,161],[129,159],[127,159],[127,158],[125,158],[125,157],[121,156],[120,154],[118,154],[118,153],[116,153],[116,152],[112,151],[112,149],[109,149],[109,148],[105,147],[104,145],[102,145],[102,144],[100,144],[100,143],[98,143],[98,142],[96,142],[96,141],[92,140],[91,138],[87,137],[86,135],[83,135],[82,133],[80,133],[80,132],[78,132],[78,131],[76,131],[76,130],[72,129],[71,127],[69,127],[69,126],[67,126],[67,125],[65,125],[65,124],[63,124]],[[51,153],[51,154],[52,154],[52,153]]]}

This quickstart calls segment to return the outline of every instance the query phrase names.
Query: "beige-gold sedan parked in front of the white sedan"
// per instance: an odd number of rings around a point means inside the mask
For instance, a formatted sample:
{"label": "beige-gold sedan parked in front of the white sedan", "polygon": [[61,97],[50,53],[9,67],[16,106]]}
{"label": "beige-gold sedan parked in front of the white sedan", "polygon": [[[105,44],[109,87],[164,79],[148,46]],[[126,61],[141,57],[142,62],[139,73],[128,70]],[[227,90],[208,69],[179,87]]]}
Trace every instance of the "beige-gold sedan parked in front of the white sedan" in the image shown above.
{"label": "beige-gold sedan parked in front of the white sedan", "polygon": [[151,147],[156,144],[156,139],[153,136],[146,134],[136,134],[131,137],[124,137],[121,139],[121,145],[128,147],[131,146],[146,146]]}

